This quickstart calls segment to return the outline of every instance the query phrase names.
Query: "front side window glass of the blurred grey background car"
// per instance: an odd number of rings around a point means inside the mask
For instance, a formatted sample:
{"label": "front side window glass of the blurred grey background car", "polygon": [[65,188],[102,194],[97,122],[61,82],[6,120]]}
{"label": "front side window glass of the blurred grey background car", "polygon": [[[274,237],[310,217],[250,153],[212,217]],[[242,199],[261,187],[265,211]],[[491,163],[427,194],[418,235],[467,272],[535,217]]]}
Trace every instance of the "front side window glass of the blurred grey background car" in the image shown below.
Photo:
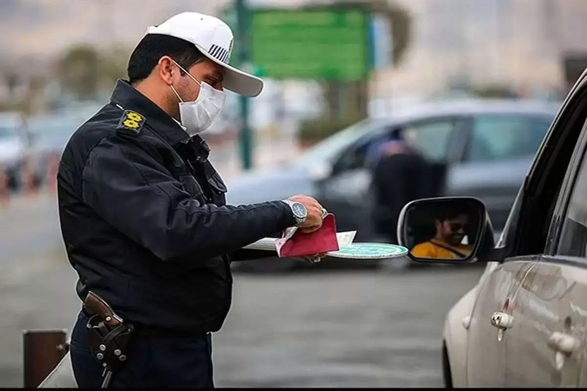
{"label": "front side window glass of the blurred grey background car", "polygon": [[430,161],[443,161],[447,157],[448,140],[453,129],[452,120],[426,121],[408,125],[403,134],[424,157]]}

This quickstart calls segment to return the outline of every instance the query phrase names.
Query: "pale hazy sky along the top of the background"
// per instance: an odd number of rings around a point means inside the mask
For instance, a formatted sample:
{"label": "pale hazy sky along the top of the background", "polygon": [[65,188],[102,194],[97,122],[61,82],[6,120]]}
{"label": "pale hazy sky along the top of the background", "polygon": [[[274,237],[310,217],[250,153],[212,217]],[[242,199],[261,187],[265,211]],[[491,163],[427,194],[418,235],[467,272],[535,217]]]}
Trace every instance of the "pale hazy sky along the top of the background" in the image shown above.
{"label": "pale hazy sky along the top of the background", "polygon": [[[292,5],[318,0],[249,0]],[[410,90],[467,70],[527,83],[560,79],[559,56],[587,52],[587,0],[395,0],[413,15],[404,63],[380,77]],[[113,42],[131,49],[147,26],[181,11],[214,13],[228,0],[0,0],[0,67],[38,67],[68,46]],[[116,4],[116,6],[114,6]],[[546,8],[556,4],[556,12]],[[555,17],[551,18],[551,15]],[[550,18],[550,19],[549,19]],[[22,60],[23,56],[28,59]],[[31,57],[33,56],[33,57]],[[393,85],[392,85],[393,84]]]}

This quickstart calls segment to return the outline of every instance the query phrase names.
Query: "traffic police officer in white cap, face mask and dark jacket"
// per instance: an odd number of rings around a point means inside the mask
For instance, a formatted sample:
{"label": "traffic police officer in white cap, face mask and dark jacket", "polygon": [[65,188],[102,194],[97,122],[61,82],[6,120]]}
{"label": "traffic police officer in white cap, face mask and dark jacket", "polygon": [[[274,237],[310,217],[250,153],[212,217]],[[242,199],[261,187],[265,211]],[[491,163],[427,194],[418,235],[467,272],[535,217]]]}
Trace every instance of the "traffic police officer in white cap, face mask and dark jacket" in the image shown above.
{"label": "traffic police officer in white cap, face mask and dark jacket", "polygon": [[[130,56],[129,81],[117,81],[62,154],[59,216],[77,294],[97,294],[134,326],[111,386],[213,387],[210,335],[231,305],[230,261],[287,227],[322,225],[325,211],[309,196],[225,205],[198,133],[222,110],[224,89],[254,97],[263,87],[228,65],[232,42],[227,24],[196,12],[151,26]],[[80,387],[100,387],[86,310],[73,327],[72,365]]]}

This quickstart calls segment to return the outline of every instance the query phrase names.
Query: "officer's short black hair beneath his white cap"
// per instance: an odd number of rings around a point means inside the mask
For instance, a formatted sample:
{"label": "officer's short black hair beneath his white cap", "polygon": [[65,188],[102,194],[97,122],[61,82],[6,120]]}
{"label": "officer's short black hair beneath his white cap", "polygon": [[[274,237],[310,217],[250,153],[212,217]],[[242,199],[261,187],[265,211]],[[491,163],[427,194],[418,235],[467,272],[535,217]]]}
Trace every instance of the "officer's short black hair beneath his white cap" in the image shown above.
{"label": "officer's short black hair beneath his white cap", "polygon": [[[163,56],[170,56],[185,70],[206,57],[186,40],[163,34],[147,34],[134,48],[127,72],[131,84],[146,79]],[[182,72],[183,73],[183,72]]]}

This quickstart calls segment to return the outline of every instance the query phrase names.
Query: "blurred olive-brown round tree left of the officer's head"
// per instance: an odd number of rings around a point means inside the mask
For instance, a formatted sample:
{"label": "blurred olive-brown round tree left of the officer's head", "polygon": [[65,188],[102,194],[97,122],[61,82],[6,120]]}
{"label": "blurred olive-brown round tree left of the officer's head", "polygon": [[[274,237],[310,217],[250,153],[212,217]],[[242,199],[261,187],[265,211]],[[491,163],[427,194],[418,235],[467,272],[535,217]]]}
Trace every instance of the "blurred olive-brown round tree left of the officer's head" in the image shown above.
{"label": "blurred olive-brown round tree left of the officer's head", "polygon": [[57,77],[63,89],[80,100],[96,97],[100,80],[100,55],[92,46],[75,45],[59,59]]}

